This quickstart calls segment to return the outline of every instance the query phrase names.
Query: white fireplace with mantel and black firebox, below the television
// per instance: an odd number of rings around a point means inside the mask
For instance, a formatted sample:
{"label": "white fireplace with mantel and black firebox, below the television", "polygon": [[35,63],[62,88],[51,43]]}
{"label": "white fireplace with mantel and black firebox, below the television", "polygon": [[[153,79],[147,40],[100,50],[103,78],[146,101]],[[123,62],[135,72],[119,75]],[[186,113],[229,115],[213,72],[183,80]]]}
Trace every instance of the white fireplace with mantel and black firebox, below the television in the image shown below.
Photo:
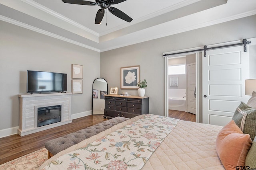
{"label": "white fireplace with mantel and black firebox, below the television", "polygon": [[[18,135],[24,136],[71,123],[72,93],[21,94]],[[50,116],[49,116],[50,113]],[[46,120],[47,116],[49,120]]]}

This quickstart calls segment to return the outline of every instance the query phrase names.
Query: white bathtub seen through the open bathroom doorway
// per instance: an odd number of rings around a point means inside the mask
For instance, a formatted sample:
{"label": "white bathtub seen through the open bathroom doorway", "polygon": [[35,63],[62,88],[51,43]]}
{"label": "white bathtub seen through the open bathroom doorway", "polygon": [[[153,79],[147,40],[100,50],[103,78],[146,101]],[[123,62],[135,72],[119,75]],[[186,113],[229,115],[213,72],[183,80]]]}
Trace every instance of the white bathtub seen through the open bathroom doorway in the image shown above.
{"label": "white bathtub seen through the open bathroom doorway", "polygon": [[168,98],[169,109],[186,111],[186,98]]}

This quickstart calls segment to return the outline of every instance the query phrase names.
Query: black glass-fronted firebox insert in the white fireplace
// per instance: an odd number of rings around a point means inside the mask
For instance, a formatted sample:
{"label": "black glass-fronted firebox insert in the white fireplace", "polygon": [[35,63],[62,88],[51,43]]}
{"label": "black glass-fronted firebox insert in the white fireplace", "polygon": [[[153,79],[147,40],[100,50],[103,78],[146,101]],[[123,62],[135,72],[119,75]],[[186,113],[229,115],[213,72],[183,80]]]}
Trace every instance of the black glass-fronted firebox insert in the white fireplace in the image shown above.
{"label": "black glass-fronted firebox insert in the white fireplace", "polygon": [[38,107],[37,127],[57,123],[61,121],[61,105]]}

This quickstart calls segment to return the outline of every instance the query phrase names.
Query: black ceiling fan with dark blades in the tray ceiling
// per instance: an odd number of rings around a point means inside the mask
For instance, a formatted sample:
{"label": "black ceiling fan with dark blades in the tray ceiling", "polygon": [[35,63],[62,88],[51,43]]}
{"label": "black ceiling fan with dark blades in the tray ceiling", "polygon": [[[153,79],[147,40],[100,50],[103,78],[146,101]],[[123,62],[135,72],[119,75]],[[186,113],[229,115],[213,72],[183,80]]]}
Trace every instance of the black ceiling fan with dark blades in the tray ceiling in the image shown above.
{"label": "black ceiling fan with dark blades in the tray ceiling", "polygon": [[132,18],[130,18],[124,12],[118,10],[117,8],[110,6],[113,4],[119,4],[124,1],[126,1],[126,0],[95,0],[95,2],[91,2],[91,1],[87,1],[87,0],[62,0],[62,2],[68,3],[68,4],[100,6],[101,9],[99,9],[96,14],[95,24],[101,23],[106,8],[108,8],[108,11],[111,12],[113,15],[117,16],[118,18],[121,18],[122,20],[127,21],[127,22],[132,21]]}

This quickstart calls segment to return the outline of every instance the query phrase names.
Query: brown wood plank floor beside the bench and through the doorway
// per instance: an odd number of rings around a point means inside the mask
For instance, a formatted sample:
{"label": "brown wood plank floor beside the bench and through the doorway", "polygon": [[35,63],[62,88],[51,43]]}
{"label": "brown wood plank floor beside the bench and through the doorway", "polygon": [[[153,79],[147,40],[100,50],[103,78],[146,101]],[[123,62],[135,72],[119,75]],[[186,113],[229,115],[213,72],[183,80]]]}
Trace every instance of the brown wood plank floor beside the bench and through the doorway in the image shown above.
{"label": "brown wood plank floor beside the bench and through the doorway", "polygon": [[[196,116],[183,111],[169,110],[169,117],[186,121],[196,121]],[[44,148],[44,143],[54,138],[76,132],[80,129],[106,121],[103,115],[89,115],[73,119],[72,123],[20,137],[18,134],[0,138],[0,164],[14,160]]]}

